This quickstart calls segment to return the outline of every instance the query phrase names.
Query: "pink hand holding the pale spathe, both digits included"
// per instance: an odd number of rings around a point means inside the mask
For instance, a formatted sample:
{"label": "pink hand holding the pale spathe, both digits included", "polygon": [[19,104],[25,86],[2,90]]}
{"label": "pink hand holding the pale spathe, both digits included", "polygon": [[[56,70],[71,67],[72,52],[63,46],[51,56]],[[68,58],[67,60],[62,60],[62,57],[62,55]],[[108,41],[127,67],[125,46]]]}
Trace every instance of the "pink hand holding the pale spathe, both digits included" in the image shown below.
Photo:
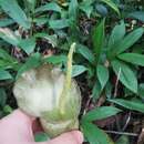
{"label": "pink hand holding the pale spathe, both digits included", "polygon": [[33,117],[20,110],[0,120],[0,144],[82,144],[83,135],[80,131],[72,131],[49,141],[34,142]]}

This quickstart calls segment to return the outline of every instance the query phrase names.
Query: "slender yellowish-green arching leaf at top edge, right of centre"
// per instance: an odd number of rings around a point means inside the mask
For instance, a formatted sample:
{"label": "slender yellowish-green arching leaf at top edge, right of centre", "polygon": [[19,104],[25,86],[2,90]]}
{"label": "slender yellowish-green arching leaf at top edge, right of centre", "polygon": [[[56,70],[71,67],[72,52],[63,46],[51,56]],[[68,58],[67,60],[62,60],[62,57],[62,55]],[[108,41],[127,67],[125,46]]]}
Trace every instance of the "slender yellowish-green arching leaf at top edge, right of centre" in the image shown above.
{"label": "slender yellowish-green arching leaf at top edge, right of centre", "polygon": [[109,7],[111,7],[119,16],[120,14],[120,10],[117,8],[117,6],[112,1],[112,0],[101,0],[102,2],[106,3]]}

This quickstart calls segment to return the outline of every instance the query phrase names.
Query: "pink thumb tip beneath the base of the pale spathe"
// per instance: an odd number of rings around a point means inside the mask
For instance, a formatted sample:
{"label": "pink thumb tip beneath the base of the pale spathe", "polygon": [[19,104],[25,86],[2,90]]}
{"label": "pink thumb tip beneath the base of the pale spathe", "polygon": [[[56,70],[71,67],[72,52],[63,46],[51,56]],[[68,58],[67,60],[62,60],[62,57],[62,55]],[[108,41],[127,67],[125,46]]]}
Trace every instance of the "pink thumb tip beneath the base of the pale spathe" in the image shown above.
{"label": "pink thumb tip beneath the base of the pale spathe", "polygon": [[49,141],[39,144],[82,144],[83,134],[80,131],[72,131]]}

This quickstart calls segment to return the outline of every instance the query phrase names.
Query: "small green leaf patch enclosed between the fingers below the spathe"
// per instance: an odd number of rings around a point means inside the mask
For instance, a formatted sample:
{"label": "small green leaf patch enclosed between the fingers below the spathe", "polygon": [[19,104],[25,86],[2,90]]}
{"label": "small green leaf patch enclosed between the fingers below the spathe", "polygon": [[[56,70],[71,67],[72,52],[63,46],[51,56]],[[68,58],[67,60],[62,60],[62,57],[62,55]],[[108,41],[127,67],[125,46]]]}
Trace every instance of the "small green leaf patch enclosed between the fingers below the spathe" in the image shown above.
{"label": "small green leaf patch enclosed between the fingers below the spathe", "polygon": [[48,140],[49,140],[49,136],[45,134],[45,133],[37,133],[35,135],[34,135],[34,141],[35,142],[48,142]]}

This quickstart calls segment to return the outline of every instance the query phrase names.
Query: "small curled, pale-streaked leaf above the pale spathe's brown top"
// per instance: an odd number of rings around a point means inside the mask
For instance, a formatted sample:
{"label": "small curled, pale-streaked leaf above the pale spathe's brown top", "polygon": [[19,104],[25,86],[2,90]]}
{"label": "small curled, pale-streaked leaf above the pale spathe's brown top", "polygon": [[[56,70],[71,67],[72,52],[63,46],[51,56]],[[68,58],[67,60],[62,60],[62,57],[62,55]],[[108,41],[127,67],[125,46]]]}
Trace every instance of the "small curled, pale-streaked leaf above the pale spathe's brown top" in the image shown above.
{"label": "small curled, pale-streaked leaf above the pale spathe's brown top", "polygon": [[52,47],[58,47],[58,37],[56,34],[53,35],[49,35],[47,33],[37,33],[34,34],[34,38],[42,38],[49,41],[50,44],[52,44]]}

